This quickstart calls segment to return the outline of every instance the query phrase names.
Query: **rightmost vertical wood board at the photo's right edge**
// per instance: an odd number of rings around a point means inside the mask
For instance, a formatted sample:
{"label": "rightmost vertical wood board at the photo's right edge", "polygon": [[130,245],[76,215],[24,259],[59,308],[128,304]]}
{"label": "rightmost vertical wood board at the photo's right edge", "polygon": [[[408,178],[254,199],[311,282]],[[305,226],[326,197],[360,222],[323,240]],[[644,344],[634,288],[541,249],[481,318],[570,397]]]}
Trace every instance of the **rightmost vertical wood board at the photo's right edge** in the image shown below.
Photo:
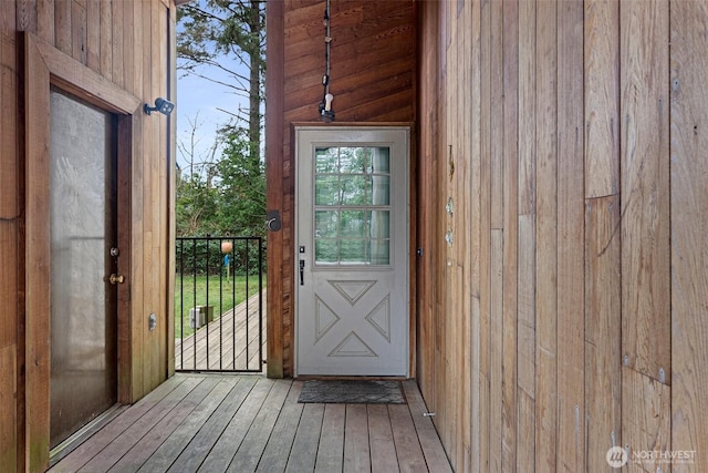
{"label": "rightmost vertical wood board at the photo's right edge", "polygon": [[708,465],[708,7],[671,2],[670,18],[670,436],[673,449],[696,450],[700,471]]}

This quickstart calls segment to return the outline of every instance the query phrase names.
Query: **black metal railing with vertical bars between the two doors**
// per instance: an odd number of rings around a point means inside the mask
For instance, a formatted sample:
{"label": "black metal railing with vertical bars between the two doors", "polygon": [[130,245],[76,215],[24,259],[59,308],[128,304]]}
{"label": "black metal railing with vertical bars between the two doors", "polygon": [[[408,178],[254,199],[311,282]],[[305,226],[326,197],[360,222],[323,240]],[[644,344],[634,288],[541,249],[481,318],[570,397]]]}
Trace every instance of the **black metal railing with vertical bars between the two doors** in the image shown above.
{"label": "black metal railing with vertical bars between the two doors", "polygon": [[261,237],[179,237],[175,369],[256,371],[263,364]]}

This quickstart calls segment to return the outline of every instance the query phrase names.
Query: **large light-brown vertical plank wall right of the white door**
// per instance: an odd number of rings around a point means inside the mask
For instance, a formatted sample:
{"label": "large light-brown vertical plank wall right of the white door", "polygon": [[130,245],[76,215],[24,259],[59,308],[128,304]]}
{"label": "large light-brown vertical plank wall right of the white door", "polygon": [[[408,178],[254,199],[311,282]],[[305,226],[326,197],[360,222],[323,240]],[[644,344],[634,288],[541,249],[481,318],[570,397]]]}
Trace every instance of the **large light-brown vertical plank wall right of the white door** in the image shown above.
{"label": "large light-brown vertical plank wall right of the white door", "polygon": [[417,376],[455,469],[708,470],[706,3],[418,10]]}

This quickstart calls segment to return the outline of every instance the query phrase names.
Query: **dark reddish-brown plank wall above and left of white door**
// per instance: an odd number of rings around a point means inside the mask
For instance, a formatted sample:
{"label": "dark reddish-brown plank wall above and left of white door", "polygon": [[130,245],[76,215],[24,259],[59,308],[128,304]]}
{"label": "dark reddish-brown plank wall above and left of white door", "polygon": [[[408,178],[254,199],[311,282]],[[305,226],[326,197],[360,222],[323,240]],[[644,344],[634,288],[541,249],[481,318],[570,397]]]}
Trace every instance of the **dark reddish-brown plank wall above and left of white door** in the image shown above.
{"label": "dark reddish-brown plank wall above and left of white door", "polygon": [[[268,239],[268,280],[277,285],[268,291],[270,376],[293,374],[295,163],[291,126],[322,123],[317,106],[324,96],[324,9],[322,0],[284,0],[268,7],[268,208],[279,210],[283,224]],[[415,2],[334,0],[330,18],[334,125],[414,122]],[[278,71],[282,75],[275,75]]]}

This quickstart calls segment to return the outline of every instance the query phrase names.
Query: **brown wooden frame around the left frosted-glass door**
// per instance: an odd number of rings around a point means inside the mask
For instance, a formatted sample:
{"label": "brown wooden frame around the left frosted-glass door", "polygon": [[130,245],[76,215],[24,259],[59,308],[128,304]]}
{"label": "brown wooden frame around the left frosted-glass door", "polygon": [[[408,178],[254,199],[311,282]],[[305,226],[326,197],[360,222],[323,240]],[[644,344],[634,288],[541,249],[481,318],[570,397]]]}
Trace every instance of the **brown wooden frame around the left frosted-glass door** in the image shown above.
{"label": "brown wooden frame around the left frosted-glass door", "polygon": [[69,92],[117,116],[118,402],[132,399],[131,220],[133,127],[142,101],[32,33],[24,42],[24,425],[28,467],[44,470],[50,445],[50,88]]}

